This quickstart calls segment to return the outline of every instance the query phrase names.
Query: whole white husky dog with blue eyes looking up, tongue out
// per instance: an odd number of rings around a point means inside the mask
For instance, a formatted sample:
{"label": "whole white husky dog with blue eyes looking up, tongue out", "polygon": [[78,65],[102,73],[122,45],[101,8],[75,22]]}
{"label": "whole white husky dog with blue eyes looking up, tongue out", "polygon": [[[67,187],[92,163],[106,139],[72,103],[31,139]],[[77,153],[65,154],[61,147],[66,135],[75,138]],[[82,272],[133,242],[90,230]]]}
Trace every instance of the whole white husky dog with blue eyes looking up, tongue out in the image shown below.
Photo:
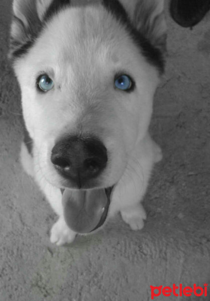
{"label": "whole white husky dog with blue eyes looking up, tongue out", "polygon": [[[148,127],[164,70],[164,0],[14,0],[9,57],[26,125],[21,162],[70,243],[141,200],[161,149]],[[75,4],[76,3],[76,4]]]}

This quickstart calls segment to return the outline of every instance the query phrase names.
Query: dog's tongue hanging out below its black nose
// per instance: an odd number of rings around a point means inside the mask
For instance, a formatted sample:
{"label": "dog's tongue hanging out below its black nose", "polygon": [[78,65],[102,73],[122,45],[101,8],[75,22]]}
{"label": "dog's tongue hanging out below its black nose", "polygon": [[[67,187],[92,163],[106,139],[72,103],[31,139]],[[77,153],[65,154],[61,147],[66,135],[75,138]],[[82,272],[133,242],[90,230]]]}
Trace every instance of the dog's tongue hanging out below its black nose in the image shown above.
{"label": "dog's tongue hanging out below its black nose", "polygon": [[62,202],[64,218],[69,228],[76,233],[89,233],[100,222],[108,198],[104,189],[65,189]]}

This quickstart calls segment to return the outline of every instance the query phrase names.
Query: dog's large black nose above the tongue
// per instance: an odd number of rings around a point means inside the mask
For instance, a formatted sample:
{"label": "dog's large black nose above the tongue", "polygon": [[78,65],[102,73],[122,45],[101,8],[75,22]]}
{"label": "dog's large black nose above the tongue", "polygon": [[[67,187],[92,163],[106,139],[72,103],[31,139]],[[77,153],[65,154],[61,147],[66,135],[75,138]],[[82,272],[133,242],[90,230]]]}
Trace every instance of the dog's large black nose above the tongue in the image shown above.
{"label": "dog's large black nose above the tongue", "polygon": [[107,148],[95,137],[70,136],[55,144],[51,161],[64,178],[81,188],[106,167]]}

